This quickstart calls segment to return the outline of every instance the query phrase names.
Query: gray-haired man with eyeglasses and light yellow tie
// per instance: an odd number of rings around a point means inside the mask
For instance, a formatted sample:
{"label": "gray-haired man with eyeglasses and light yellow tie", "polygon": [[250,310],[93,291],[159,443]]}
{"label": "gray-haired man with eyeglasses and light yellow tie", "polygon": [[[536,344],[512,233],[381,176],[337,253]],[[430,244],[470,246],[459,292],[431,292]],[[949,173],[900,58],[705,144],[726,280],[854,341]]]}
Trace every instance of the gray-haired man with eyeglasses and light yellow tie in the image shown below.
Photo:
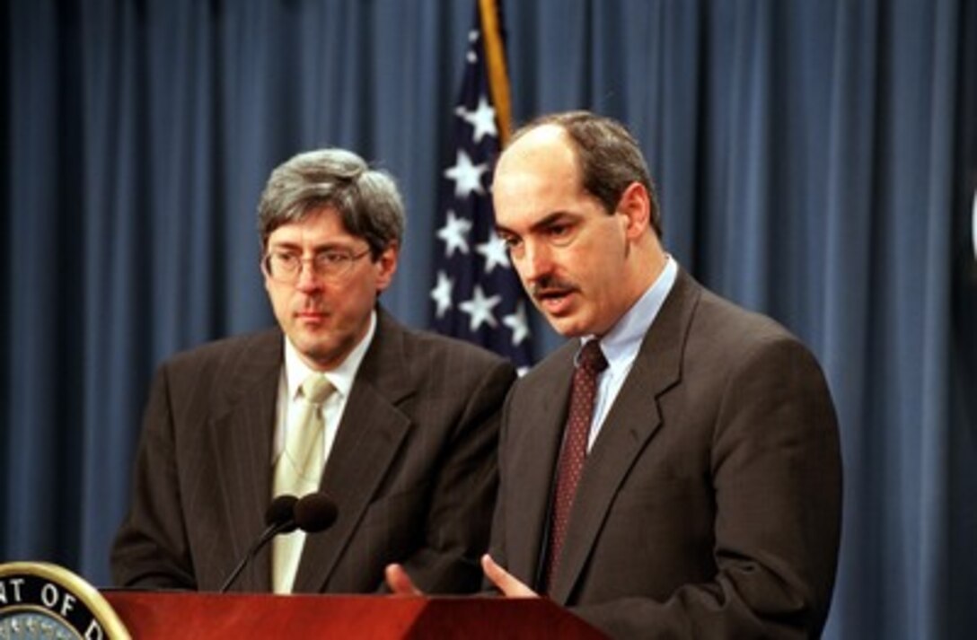
{"label": "gray-haired man with eyeglasses and light yellow tie", "polygon": [[335,524],[278,536],[234,589],[382,591],[390,562],[426,590],[477,589],[512,365],[379,306],[404,206],[358,155],[323,149],[277,167],[258,226],[278,327],[157,371],[113,579],[217,590],[276,495],[324,491]]}

